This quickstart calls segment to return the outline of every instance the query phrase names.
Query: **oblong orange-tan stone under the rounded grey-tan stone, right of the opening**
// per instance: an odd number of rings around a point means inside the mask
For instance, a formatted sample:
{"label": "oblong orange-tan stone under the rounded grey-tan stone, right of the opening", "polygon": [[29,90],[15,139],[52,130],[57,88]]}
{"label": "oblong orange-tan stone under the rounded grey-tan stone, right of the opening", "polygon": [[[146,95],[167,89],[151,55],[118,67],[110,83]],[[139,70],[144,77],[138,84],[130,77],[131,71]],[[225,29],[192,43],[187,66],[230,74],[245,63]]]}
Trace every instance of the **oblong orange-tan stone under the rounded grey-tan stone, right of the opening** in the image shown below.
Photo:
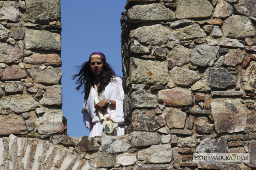
{"label": "oblong orange-tan stone under the rounded grey-tan stone, right of the opening", "polygon": [[194,103],[193,93],[179,88],[161,90],[157,93],[157,99],[165,106],[188,106]]}

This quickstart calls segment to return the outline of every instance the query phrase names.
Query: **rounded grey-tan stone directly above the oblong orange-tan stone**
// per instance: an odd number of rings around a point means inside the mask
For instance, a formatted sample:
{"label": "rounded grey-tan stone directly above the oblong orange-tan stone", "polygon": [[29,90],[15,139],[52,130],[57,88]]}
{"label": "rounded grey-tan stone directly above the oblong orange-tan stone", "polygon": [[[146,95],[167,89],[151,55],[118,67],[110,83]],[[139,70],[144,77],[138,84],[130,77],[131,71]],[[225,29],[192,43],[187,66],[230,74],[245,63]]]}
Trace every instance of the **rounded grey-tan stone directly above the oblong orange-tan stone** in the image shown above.
{"label": "rounded grey-tan stone directly above the oblong orange-tan stone", "polygon": [[173,68],[169,73],[176,85],[184,87],[190,87],[201,78],[198,71],[182,69],[180,67]]}

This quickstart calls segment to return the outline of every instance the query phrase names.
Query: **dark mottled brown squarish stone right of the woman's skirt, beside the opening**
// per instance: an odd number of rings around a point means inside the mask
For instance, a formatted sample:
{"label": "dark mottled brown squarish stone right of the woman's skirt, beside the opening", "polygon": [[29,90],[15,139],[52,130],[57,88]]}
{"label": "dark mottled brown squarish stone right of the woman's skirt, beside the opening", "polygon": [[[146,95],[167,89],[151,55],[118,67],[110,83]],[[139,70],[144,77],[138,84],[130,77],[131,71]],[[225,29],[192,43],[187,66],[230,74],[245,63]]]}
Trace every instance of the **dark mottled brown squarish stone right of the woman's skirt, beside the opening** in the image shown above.
{"label": "dark mottled brown squarish stone right of the woman's skirt, beside the opening", "polygon": [[153,111],[136,109],[132,112],[132,127],[134,131],[155,131],[160,128],[156,121]]}

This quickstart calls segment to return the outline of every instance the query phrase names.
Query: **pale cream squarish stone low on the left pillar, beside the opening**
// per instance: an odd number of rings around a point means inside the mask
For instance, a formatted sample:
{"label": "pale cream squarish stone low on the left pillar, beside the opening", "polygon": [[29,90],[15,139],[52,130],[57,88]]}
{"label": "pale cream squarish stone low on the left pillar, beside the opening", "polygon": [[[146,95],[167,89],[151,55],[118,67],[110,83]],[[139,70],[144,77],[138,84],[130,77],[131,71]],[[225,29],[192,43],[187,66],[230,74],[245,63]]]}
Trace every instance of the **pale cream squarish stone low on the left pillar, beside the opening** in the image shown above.
{"label": "pale cream squarish stone low on the left pillar, beside the opening", "polygon": [[38,132],[43,135],[59,133],[62,124],[62,110],[46,110],[41,118],[38,118]]}

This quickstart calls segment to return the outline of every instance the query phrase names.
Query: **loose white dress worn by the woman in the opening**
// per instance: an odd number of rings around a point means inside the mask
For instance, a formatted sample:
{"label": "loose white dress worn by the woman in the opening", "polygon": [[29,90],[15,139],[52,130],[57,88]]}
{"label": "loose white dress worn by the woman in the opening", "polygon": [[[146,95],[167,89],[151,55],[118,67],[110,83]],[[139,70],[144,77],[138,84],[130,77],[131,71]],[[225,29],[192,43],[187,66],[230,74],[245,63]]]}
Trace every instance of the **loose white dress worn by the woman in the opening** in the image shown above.
{"label": "loose white dress worn by the woman in the opening", "polygon": [[[122,85],[122,79],[119,77],[114,78],[116,82],[110,82],[105,90],[100,94],[100,100],[109,99],[116,101],[116,109],[111,106],[107,106],[105,109],[106,119],[115,119],[118,123],[116,129],[114,129],[115,136],[124,135],[124,90]],[[100,122],[99,115],[94,108],[94,99],[97,98],[96,91],[91,87],[90,95],[87,100],[84,100],[82,113],[84,115],[84,124],[86,128],[90,129],[90,137],[101,136],[103,123]]]}

